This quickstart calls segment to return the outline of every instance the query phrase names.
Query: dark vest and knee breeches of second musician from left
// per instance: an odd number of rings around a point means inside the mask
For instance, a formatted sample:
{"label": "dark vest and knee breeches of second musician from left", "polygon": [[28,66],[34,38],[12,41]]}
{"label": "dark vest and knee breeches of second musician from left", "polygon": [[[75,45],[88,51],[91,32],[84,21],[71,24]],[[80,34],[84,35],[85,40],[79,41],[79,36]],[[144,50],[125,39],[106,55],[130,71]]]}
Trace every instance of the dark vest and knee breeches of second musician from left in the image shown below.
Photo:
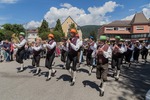
{"label": "dark vest and knee breeches of second musician from left", "polygon": [[42,50],[39,51],[35,51],[33,50],[33,58],[32,58],[32,66],[36,66],[39,67],[39,63],[40,63],[40,53]]}

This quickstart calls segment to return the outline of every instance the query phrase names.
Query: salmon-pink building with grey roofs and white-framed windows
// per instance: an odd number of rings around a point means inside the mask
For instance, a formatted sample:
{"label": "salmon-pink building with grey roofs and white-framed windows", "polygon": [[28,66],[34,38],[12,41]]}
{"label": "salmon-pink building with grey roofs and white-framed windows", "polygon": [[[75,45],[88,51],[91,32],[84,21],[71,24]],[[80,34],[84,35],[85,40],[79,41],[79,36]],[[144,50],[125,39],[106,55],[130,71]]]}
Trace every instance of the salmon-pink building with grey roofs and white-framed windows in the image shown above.
{"label": "salmon-pink building with grey roofs and white-framed windows", "polygon": [[99,36],[106,35],[110,40],[114,40],[116,35],[123,39],[132,40],[149,40],[150,38],[150,21],[145,17],[143,12],[136,13],[132,20],[113,21],[103,25],[98,30]]}

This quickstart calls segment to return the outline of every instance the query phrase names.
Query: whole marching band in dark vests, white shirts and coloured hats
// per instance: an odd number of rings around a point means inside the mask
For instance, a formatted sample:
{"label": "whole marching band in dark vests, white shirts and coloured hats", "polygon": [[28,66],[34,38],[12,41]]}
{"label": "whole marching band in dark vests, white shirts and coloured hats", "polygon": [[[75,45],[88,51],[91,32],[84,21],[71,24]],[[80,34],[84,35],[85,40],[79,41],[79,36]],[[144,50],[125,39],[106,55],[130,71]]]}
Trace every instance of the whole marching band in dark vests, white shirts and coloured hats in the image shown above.
{"label": "whole marching band in dark vests, white shirts and coloured hats", "polygon": [[[111,44],[105,35],[101,35],[98,39],[99,42],[94,41],[94,37],[90,36],[89,41],[84,43],[84,41],[79,39],[76,29],[70,29],[69,34],[71,37],[69,39],[63,38],[59,48],[61,50],[61,61],[63,62],[62,68],[68,70],[71,76],[70,86],[75,85],[77,69],[82,64],[84,52],[86,65],[89,67],[89,75],[92,74],[92,69],[96,68],[96,78],[100,81],[100,96],[104,95],[109,59],[111,59],[111,68],[114,71],[113,76],[116,81],[119,80],[123,61],[127,62],[130,67],[132,62],[139,62],[139,55],[141,54],[144,62],[147,62],[148,50],[150,49],[148,42],[125,41],[120,36],[116,36],[115,42]],[[23,57],[26,43],[25,33],[21,32],[18,43],[14,43],[15,48],[17,48],[16,62],[20,64],[18,72],[24,71]],[[52,33],[48,35],[47,42],[42,42],[42,39],[39,37],[36,38],[35,43],[31,47],[33,55],[32,66],[36,68],[34,76],[41,73],[40,58],[43,50],[46,50],[45,67],[48,69],[46,81],[50,81],[51,76],[55,76],[57,71],[52,68],[52,65],[55,58],[56,45],[55,37]]]}

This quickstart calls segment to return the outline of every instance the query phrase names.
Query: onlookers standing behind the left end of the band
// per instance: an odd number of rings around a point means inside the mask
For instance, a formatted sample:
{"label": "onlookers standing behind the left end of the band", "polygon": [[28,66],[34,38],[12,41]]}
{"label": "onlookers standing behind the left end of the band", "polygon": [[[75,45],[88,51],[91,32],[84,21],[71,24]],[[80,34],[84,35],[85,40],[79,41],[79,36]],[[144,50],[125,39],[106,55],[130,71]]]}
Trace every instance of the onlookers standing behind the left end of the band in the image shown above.
{"label": "onlookers standing behind the left end of the band", "polygon": [[[25,45],[25,54],[24,59],[32,58],[32,46],[34,42],[27,43]],[[15,60],[15,54],[17,52],[17,48],[14,47],[13,43],[8,40],[3,40],[0,42],[0,62],[10,62]],[[46,51],[43,49],[41,53],[41,57],[45,57]],[[56,48],[56,56],[60,56],[60,49]]]}

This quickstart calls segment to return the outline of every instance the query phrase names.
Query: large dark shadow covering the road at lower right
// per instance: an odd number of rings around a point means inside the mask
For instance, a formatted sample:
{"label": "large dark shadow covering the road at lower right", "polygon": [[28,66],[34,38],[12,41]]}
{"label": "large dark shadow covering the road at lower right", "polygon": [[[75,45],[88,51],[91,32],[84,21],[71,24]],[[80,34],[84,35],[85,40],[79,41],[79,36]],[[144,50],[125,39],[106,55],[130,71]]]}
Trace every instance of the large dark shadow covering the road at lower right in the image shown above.
{"label": "large dark shadow covering the road at lower right", "polygon": [[[145,99],[145,95],[150,89],[150,63],[122,68],[121,77],[124,78],[124,81],[118,81],[120,88],[132,91],[137,100]],[[123,94],[126,96],[126,93]],[[118,97],[119,100],[120,98]]]}

